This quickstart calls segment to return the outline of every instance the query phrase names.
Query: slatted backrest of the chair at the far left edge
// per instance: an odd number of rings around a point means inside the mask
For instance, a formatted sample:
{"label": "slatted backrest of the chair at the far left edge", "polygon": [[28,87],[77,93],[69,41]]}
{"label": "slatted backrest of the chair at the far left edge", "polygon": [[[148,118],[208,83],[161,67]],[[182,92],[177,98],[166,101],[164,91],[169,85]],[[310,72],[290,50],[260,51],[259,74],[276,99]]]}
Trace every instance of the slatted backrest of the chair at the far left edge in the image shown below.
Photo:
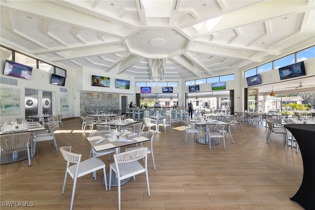
{"label": "slatted backrest of the chair at the far left edge", "polygon": [[0,147],[3,154],[27,150],[32,132],[3,134],[0,136]]}

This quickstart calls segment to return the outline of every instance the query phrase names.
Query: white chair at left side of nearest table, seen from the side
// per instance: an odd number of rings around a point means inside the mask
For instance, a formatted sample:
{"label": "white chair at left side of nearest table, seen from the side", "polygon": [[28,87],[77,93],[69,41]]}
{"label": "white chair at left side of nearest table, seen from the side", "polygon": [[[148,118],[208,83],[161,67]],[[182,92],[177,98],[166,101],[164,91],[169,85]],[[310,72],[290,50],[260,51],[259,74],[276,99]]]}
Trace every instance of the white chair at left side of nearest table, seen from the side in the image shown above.
{"label": "white chair at left side of nearest table, seen from the side", "polygon": [[[70,210],[72,210],[77,178],[90,174],[90,173],[94,173],[99,169],[103,169],[103,173],[105,176],[106,175],[105,163],[95,157],[81,162],[82,154],[76,154],[76,153],[71,152],[71,146],[60,147],[60,151],[63,154],[64,160],[67,161],[64,180],[63,180],[63,191],[61,194],[63,195],[64,193],[67,174],[69,174],[71,178],[73,179],[72,196],[71,196],[71,204],[70,204]],[[70,163],[75,163],[75,164],[70,166]],[[95,176],[95,180],[96,180],[96,176]],[[105,178],[105,190],[107,191],[106,178]]]}

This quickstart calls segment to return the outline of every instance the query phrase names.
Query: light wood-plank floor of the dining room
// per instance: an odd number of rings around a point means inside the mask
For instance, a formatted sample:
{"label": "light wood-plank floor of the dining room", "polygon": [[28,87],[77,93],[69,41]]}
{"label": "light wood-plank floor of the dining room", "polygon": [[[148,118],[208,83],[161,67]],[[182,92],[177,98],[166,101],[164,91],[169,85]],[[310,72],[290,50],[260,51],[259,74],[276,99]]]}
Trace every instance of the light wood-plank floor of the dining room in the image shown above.
{"label": "light wood-plank floor of the dining room", "polygon": [[[64,127],[56,132],[58,147],[71,145],[82,159],[89,157],[86,140],[90,132],[82,133],[80,119],[63,120]],[[234,144],[228,138],[223,144],[199,144],[189,135],[183,141],[182,123],[172,123],[173,133],[167,130],[156,134],[154,154],[157,171],[148,156],[151,197],[148,197],[145,175],[137,175],[122,185],[124,210],[300,210],[291,201],[303,176],[301,153],[286,146],[283,136],[273,134],[266,143],[266,128],[242,123],[244,132],[232,132]],[[149,143],[146,143],[149,146]],[[124,150],[124,148],[122,148]],[[109,172],[108,156],[100,157]],[[62,154],[49,141],[36,145],[32,166],[20,161],[0,166],[3,202],[33,202],[33,207],[18,209],[66,210],[70,207],[72,179],[68,176],[64,195],[61,194],[65,164]],[[118,209],[117,187],[105,191],[102,172],[78,178],[74,210]],[[18,203],[17,203],[18,204]]]}

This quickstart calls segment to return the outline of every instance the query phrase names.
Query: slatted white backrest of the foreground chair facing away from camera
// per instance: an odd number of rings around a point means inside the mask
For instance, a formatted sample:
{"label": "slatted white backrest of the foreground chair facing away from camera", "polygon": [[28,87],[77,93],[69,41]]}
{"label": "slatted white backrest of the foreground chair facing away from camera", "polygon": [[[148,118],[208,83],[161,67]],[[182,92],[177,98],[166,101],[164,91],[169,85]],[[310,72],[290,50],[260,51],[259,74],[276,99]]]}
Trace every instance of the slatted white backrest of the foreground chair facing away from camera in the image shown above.
{"label": "slatted white backrest of the foreground chair facing away from camera", "polygon": [[[141,147],[139,149],[133,149],[126,152],[121,152],[118,154],[114,154],[114,160],[117,168],[119,168],[119,163],[128,163],[132,161],[136,161],[147,157],[148,155],[148,147]],[[145,161],[147,163],[147,161]]]}

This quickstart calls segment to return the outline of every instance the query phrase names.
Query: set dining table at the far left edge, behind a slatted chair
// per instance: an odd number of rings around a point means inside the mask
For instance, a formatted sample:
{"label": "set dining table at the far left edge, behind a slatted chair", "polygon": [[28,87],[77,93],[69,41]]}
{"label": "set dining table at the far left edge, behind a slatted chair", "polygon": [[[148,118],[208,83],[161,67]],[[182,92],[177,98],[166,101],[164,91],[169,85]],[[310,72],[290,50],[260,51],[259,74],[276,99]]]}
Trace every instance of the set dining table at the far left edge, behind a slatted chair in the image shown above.
{"label": "set dining table at the far left edge, behind a slatted chair", "polygon": [[[45,127],[38,122],[29,122],[26,129],[22,129],[22,124],[8,125],[5,131],[0,131],[0,135],[15,134],[23,132],[36,132],[45,130]],[[32,145],[31,145],[32,146]],[[0,164],[14,163],[28,159],[27,151],[13,152],[12,154],[1,154]]]}

